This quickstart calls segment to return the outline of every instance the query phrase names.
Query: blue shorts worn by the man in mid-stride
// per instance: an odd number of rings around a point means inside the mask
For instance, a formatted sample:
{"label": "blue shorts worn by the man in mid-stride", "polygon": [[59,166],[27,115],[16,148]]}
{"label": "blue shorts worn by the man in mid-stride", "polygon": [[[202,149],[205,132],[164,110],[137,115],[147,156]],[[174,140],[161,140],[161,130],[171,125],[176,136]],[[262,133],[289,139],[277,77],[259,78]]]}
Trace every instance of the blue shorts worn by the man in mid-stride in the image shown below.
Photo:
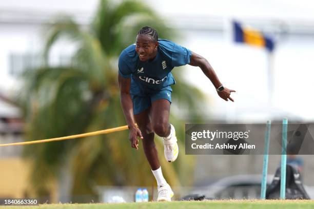
{"label": "blue shorts worn by the man in mid-stride", "polygon": [[171,103],[171,91],[160,90],[156,93],[149,94],[147,96],[139,96],[131,94],[133,102],[133,114],[139,114],[151,106],[151,103],[158,99],[167,99]]}

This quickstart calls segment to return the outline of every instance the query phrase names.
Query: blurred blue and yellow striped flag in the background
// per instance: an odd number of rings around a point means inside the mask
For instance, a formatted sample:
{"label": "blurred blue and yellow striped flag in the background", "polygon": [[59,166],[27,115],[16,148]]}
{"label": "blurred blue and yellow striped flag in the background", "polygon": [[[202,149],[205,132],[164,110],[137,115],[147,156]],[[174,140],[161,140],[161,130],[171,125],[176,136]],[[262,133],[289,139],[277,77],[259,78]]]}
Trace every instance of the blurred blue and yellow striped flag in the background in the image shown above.
{"label": "blurred blue and yellow striped flag in the background", "polygon": [[264,35],[260,31],[243,28],[237,22],[233,22],[233,38],[237,43],[264,47],[269,52],[271,52],[274,48],[274,41],[272,38]]}

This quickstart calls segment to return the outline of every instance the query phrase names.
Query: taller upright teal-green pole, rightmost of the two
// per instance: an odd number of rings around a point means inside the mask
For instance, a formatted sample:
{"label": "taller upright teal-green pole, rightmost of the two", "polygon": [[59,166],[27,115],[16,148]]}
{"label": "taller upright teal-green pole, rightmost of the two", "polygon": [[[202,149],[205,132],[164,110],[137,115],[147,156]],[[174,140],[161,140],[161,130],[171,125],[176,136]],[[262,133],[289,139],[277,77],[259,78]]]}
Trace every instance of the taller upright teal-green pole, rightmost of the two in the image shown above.
{"label": "taller upright teal-green pole, rightmost of the two", "polygon": [[280,178],[280,199],[282,200],[286,198],[287,130],[288,118],[284,118],[282,120],[281,178]]}

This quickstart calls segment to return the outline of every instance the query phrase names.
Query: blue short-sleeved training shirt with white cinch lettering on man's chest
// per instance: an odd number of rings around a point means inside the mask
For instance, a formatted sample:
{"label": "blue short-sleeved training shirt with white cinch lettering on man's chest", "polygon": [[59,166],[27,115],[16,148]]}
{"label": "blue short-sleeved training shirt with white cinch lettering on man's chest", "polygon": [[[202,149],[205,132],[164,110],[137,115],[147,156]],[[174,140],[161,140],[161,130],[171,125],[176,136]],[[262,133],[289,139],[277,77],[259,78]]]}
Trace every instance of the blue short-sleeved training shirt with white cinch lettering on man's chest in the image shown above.
{"label": "blue short-sleeved training shirt with white cinch lettering on man's chest", "polygon": [[119,56],[119,73],[131,78],[130,94],[145,96],[159,90],[171,90],[175,83],[171,70],[190,63],[192,52],[170,40],[159,39],[157,55],[151,61],[141,61],[130,45]]}

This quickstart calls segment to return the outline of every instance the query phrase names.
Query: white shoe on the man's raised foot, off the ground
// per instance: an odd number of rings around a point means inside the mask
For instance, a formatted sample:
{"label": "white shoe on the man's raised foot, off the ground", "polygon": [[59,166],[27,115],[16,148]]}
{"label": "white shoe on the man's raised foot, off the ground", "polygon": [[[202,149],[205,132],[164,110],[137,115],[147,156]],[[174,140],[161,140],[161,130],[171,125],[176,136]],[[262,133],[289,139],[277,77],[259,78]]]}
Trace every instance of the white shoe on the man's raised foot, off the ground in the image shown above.
{"label": "white shoe on the man's raised foot, off the ground", "polygon": [[167,137],[163,137],[164,141],[164,153],[165,153],[165,158],[168,160],[168,162],[173,162],[179,154],[179,147],[178,143],[176,143],[176,136],[175,136],[175,130],[172,124],[171,126],[171,136],[168,139]]}

